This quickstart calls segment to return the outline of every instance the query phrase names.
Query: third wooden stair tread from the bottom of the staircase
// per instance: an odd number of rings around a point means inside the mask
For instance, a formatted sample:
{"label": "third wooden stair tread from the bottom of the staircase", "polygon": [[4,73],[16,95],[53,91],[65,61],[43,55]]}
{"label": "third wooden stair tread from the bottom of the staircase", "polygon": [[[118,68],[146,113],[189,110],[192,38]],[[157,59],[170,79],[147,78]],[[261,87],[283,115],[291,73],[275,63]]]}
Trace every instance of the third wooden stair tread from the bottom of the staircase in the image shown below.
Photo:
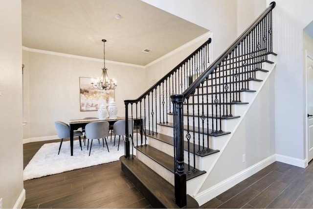
{"label": "third wooden stair tread from the bottom of the staircase", "polygon": [[[167,144],[170,144],[170,145],[174,145],[174,138],[173,137],[170,137],[170,136],[167,136],[167,135],[164,135],[164,134],[160,134],[160,133],[154,133],[154,134],[149,134],[147,135],[148,137],[151,137],[151,138],[154,138],[154,139],[157,139],[159,141],[162,141],[164,143],[167,143]],[[189,143],[190,145],[190,153],[194,153],[193,151],[193,143],[190,142]],[[196,144],[196,148],[198,149],[198,145]],[[217,152],[220,152],[220,150],[217,150],[217,149],[204,149],[205,151],[201,151],[201,152],[197,152],[198,150],[196,149],[196,155],[198,156],[201,156],[201,157],[204,157],[204,156],[207,156],[207,155],[212,155],[214,153],[217,153]],[[203,149],[203,147],[201,146],[200,149]],[[188,151],[188,142],[184,140],[184,150]]]}

